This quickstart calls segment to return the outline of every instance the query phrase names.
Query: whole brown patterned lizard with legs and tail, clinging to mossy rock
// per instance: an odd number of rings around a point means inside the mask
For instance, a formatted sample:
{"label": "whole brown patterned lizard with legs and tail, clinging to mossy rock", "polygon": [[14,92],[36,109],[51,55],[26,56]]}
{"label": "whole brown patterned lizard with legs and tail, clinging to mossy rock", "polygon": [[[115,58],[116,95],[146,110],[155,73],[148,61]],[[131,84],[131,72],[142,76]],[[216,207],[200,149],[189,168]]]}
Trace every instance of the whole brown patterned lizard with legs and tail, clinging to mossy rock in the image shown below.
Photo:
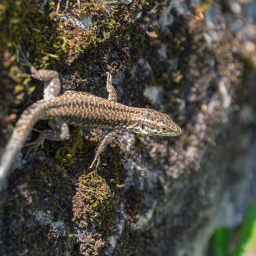
{"label": "whole brown patterned lizard with legs and tail, clinging to mossy rock", "polygon": [[44,99],[29,106],[18,119],[12,135],[0,159],[0,192],[6,187],[6,177],[15,162],[17,154],[24,146],[33,126],[38,120],[49,119],[52,129],[37,131],[38,138],[27,145],[35,151],[45,139],[64,141],[70,137],[69,126],[98,127],[106,129],[96,147],[94,160],[96,170],[103,152],[116,130],[130,131],[142,135],[178,136],[181,128],[164,113],[149,108],[136,108],[117,103],[117,94],[112,85],[112,75],[107,74],[106,89],[108,99],[87,92],[61,91],[57,71],[37,70],[20,49],[22,66],[26,66],[31,77],[44,82]]}

